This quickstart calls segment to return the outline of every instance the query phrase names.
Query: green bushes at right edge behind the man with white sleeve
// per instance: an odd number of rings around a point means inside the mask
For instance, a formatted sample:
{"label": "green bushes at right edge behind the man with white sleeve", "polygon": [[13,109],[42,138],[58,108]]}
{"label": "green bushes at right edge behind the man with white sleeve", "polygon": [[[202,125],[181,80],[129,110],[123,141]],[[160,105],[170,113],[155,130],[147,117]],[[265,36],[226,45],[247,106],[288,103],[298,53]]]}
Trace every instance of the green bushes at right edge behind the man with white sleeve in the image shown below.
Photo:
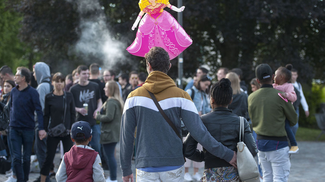
{"label": "green bushes at right edge behind the man with white sleeve", "polygon": [[308,127],[308,128],[318,128],[314,114],[320,111],[320,104],[325,99],[324,97],[325,85],[313,83],[311,88],[307,84],[302,85],[302,87],[309,107],[309,116],[308,117],[305,116],[305,111],[300,105],[299,126]]}

